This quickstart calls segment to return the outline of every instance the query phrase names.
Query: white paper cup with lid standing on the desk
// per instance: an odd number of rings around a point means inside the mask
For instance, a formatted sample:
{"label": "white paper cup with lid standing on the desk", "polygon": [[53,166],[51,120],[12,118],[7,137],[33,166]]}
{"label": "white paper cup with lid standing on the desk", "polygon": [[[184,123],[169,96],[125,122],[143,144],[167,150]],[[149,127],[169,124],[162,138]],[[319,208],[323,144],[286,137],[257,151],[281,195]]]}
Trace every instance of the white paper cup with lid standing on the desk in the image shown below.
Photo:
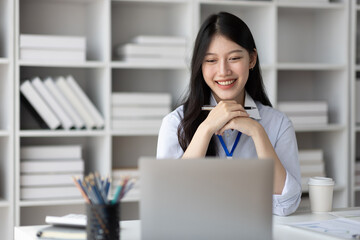
{"label": "white paper cup with lid standing on the desk", "polygon": [[326,177],[312,177],[309,179],[310,206],[313,213],[330,212],[334,181]]}

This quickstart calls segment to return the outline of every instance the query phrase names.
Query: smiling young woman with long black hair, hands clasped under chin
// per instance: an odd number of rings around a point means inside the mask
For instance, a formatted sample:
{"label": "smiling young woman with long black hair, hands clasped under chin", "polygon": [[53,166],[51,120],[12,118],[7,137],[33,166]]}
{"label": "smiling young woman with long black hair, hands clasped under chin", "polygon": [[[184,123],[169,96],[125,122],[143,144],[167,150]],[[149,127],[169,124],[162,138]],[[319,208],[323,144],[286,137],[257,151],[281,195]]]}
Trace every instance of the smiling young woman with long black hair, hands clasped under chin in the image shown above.
{"label": "smiling young woman with long black hair, hands clasped under chin", "polygon": [[[215,107],[206,111],[204,105]],[[157,158],[205,156],[273,159],[273,213],[297,209],[301,177],[294,128],[271,107],[249,28],[226,12],[202,24],[188,96],[163,119],[158,138]]]}

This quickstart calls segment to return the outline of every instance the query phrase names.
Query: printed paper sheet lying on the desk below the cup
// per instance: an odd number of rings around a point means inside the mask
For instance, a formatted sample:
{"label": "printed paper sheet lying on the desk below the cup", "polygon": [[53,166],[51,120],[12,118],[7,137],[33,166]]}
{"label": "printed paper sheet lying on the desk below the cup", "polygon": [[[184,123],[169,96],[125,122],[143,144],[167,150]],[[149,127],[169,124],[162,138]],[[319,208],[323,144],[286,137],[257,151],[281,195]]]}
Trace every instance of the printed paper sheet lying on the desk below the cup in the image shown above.
{"label": "printed paper sheet lying on the desk below the cup", "polygon": [[353,239],[352,236],[354,234],[360,234],[360,222],[342,217],[324,221],[293,223],[290,226],[325,233],[343,239]]}

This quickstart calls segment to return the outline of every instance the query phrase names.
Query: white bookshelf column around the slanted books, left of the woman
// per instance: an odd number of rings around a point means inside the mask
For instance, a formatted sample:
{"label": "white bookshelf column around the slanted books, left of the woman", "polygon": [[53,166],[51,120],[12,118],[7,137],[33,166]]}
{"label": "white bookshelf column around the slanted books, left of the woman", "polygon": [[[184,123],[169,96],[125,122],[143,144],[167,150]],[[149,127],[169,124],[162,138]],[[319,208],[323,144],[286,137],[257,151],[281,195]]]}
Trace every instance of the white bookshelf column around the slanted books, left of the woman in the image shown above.
{"label": "white bookshelf column around the slanted books, left of the woman", "polygon": [[[44,223],[45,216],[84,212],[82,199],[54,199],[25,201],[20,199],[19,150],[26,145],[80,144],[85,172],[99,171],[105,175],[111,170],[109,135],[109,1],[101,0],[17,0],[15,11],[15,40],[20,34],[48,34],[85,36],[86,62],[41,62],[19,59],[15,47],[15,225]],[[32,114],[22,106],[19,86],[22,81],[39,76],[73,75],[106,120],[105,128],[98,130],[41,129]]]}

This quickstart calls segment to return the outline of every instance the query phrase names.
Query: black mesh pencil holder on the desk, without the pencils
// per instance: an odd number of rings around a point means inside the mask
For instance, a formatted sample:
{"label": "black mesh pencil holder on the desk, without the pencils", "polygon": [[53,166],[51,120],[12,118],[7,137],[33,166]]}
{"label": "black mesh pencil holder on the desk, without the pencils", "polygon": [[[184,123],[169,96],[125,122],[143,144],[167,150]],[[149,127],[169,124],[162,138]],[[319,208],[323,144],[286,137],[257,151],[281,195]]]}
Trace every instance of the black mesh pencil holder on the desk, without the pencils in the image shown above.
{"label": "black mesh pencil holder on the desk, without the pencils", "polygon": [[86,204],[88,240],[120,239],[120,203]]}

